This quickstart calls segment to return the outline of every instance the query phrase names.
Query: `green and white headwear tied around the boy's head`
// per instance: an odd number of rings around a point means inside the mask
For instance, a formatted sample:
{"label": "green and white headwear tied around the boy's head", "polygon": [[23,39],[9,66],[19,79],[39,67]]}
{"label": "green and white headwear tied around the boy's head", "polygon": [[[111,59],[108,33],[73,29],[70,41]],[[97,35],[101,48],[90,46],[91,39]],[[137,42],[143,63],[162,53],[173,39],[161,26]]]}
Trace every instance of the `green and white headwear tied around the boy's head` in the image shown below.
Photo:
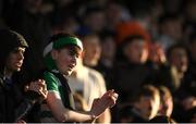
{"label": "green and white headwear tied around the boy's head", "polygon": [[76,46],[78,47],[81,50],[83,50],[83,44],[82,41],[74,37],[74,36],[62,36],[60,38],[57,38],[56,40],[52,40],[49,45],[46,46],[45,50],[44,50],[44,61],[46,66],[49,70],[56,70],[56,62],[53,61],[53,59],[51,58],[51,51],[53,49],[62,49],[66,46]]}

